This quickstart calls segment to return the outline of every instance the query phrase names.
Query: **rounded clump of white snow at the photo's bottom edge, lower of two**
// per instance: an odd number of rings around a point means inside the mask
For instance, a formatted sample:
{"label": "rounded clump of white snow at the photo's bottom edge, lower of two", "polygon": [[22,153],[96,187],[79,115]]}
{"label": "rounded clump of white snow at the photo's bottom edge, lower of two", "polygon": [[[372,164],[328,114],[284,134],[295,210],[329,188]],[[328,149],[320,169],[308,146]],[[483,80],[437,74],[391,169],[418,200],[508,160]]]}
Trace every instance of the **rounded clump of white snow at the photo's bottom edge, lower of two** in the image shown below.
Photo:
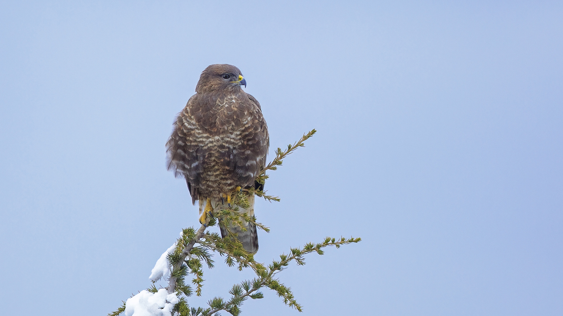
{"label": "rounded clump of white snow at the photo's bottom edge, lower of two", "polygon": [[166,288],[156,293],[142,290],[125,303],[125,316],[172,316],[178,301],[176,292],[168,294]]}

